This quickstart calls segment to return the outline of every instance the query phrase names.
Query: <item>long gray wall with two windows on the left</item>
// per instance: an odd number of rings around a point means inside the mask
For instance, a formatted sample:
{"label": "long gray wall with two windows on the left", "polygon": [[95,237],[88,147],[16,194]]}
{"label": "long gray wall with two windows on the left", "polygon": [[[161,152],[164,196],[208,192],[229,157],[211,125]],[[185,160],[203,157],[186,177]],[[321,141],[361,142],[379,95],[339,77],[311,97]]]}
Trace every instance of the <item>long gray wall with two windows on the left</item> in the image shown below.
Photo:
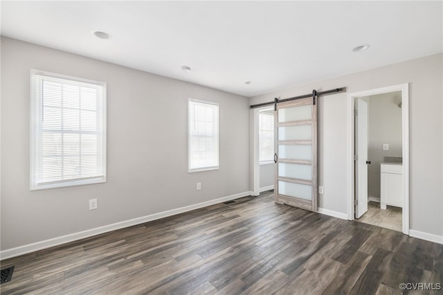
{"label": "long gray wall with two windows on the left", "polygon": [[[31,68],[107,82],[107,183],[29,190]],[[188,173],[188,98],[219,103],[219,170]],[[248,192],[248,120],[242,96],[2,37],[1,250]]]}

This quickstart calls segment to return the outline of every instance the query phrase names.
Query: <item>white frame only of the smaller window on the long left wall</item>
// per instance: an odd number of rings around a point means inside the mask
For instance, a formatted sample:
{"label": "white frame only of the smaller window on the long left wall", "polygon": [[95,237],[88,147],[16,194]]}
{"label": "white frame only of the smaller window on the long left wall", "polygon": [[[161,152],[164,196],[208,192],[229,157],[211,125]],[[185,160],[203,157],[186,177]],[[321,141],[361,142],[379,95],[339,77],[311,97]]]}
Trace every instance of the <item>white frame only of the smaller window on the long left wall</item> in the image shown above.
{"label": "white frame only of the smaller window on the long left wall", "polygon": [[[215,136],[215,157],[217,159],[216,166],[206,166],[201,168],[191,168],[191,107],[192,102],[197,102],[199,104],[211,105],[213,107],[217,107],[217,111],[215,114],[215,132],[217,133]],[[210,171],[210,170],[219,170],[220,169],[220,106],[217,102],[209,102],[205,100],[197,100],[194,98],[188,99],[188,172],[201,172],[201,171]]]}

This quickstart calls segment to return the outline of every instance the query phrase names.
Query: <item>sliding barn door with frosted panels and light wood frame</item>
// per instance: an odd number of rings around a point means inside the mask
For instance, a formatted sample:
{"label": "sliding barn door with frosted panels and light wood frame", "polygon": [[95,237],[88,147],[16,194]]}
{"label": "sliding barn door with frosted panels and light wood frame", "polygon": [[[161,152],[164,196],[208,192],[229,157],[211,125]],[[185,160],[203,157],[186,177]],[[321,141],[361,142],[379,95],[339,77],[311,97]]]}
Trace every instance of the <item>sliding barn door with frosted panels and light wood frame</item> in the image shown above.
{"label": "sliding barn door with frosted panels and light wood frame", "polygon": [[317,211],[317,105],[279,103],[275,111],[275,202]]}

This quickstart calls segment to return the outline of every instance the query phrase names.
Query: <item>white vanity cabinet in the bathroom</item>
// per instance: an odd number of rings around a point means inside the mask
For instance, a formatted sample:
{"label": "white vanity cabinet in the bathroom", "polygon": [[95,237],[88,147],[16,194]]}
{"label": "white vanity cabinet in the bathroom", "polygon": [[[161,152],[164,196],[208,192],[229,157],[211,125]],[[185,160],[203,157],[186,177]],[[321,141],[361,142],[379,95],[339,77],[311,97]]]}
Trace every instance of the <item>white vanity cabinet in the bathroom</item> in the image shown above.
{"label": "white vanity cabinet in the bathroom", "polygon": [[401,163],[380,163],[381,196],[380,208],[386,205],[403,207],[403,165]]}

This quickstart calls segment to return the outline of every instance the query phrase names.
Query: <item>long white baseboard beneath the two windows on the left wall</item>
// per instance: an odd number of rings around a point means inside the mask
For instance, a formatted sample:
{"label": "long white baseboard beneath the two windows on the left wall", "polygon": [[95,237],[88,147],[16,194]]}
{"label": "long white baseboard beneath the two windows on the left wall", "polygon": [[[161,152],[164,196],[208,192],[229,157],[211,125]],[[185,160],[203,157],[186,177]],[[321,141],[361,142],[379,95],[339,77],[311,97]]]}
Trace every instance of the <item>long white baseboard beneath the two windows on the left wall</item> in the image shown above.
{"label": "long white baseboard beneath the two windows on the left wall", "polygon": [[123,229],[125,227],[128,226],[133,226],[133,225],[137,225],[137,224],[142,224],[145,222],[150,222],[152,220],[159,220],[163,217],[168,217],[171,215],[177,215],[179,213],[184,213],[184,212],[188,212],[188,211],[192,211],[198,208],[202,208],[202,207],[206,207],[206,206],[210,206],[213,204],[219,204],[222,202],[226,202],[226,201],[230,201],[231,199],[237,199],[239,197],[246,197],[248,195],[252,195],[251,191],[247,191],[244,193],[239,193],[239,194],[235,194],[235,195],[230,195],[227,197],[221,197],[219,199],[213,199],[207,202],[202,202],[199,204],[194,204],[194,205],[190,205],[190,206],[184,206],[181,208],[177,208],[177,209],[172,209],[172,210],[168,210],[168,211],[163,211],[160,213],[154,213],[151,215],[146,215],[143,217],[137,217],[134,218],[132,220],[125,220],[123,222],[117,222],[114,224],[109,224],[109,225],[105,225],[105,226],[100,226],[97,227],[95,229],[88,229],[86,231],[80,231],[78,233],[71,233],[69,235],[62,235],[61,237],[57,237],[57,238],[52,238],[49,240],[44,240],[41,242],[35,242],[32,244],[26,244],[24,246],[19,246],[19,247],[15,247],[12,249],[6,249],[3,251],[0,251],[0,259],[8,259],[8,258],[12,258],[15,256],[20,256],[26,253],[30,253],[30,252],[34,252],[34,251],[38,251],[38,250],[42,250],[42,249],[46,249],[46,248],[50,248],[50,247],[54,247],[54,246],[58,246],[60,244],[65,244],[67,242],[73,242],[75,240],[80,240],[80,239],[84,239],[84,238],[89,238],[93,235],[100,235],[101,233],[107,233],[109,231],[115,231],[116,229]]}

